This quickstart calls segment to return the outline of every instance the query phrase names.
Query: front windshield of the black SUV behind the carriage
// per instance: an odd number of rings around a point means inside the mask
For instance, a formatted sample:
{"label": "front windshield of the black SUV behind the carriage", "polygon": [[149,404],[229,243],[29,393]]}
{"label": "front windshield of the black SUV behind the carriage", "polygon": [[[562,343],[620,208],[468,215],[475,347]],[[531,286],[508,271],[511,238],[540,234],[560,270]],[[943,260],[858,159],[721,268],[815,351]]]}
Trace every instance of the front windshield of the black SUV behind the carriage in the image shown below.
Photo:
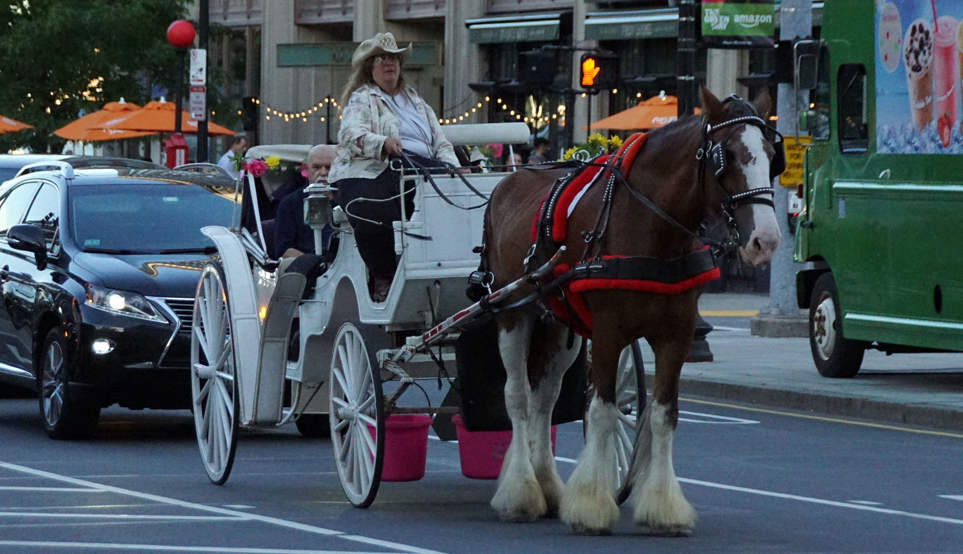
{"label": "front windshield of the black SUV behind the carriage", "polygon": [[200,228],[235,227],[241,214],[234,189],[198,185],[80,186],[68,198],[70,232],[85,252],[213,253]]}

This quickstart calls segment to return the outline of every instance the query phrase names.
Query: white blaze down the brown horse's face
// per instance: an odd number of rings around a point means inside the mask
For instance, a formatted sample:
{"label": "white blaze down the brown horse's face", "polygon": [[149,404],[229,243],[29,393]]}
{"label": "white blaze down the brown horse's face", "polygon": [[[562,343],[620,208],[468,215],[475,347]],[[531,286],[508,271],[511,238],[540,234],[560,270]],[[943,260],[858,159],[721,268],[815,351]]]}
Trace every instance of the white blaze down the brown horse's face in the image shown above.
{"label": "white blaze down the brown horse's face", "polygon": [[[746,125],[742,131],[742,144],[752,155],[749,164],[740,164],[742,174],[745,175],[745,182],[749,189],[762,189],[771,187],[769,181],[769,162],[766,155],[766,148],[763,142],[763,132],[753,125]],[[780,192],[777,190],[776,192]],[[768,195],[760,195],[767,197]],[[752,204],[752,220],[754,228],[745,246],[741,247],[740,254],[742,260],[750,265],[768,264],[772,260],[772,255],[779,247],[779,223],[776,221],[776,214],[768,206],[762,204]]]}

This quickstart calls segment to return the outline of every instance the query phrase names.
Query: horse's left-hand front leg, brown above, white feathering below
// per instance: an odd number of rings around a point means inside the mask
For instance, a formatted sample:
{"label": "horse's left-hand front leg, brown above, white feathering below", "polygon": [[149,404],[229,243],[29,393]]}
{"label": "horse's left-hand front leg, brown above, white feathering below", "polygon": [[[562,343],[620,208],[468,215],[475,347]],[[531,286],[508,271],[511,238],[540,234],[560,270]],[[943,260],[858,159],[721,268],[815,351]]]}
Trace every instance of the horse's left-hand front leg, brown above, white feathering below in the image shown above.
{"label": "horse's left-hand front leg, brown above, white feathering below", "polygon": [[586,446],[561,496],[560,516],[572,531],[585,535],[608,534],[618,520],[615,489],[615,434],[618,408],[615,406],[615,373],[625,344],[592,332],[592,384],[595,396],[586,413]]}

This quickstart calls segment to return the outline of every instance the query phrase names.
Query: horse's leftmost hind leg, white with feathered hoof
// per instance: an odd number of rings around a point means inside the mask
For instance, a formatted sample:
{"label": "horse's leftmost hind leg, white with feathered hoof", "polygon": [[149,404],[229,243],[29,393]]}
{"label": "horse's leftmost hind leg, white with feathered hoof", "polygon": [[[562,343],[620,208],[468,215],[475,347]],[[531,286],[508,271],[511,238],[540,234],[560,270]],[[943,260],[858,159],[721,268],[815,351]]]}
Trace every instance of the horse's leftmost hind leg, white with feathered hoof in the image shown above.
{"label": "horse's leftmost hind leg, white with feathered hoof", "polygon": [[505,407],[512,434],[491,507],[503,521],[534,521],[547,511],[545,496],[535,479],[528,439],[528,359],[535,321],[530,314],[509,313],[499,318],[498,348],[508,372]]}

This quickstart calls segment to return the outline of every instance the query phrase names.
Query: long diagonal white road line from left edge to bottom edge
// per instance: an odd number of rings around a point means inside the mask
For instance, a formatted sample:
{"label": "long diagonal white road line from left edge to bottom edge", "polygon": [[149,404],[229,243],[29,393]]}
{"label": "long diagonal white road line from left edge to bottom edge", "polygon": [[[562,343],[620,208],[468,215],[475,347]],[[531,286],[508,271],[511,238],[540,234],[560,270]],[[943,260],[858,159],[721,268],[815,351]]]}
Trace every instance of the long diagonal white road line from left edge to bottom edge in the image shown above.
{"label": "long diagonal white road line from left edge to bottom edge", "polygon": [[[204,504],[196,504],[195,502],[186,502],[184,500],[177,500],[175,498],[168,498],[167,496],[160,496],[157,494],[149,494],[147,492],[130,491],[128,489],[121,489],[119,487],[112,487],[109,485],[102,485],[99,483],[92,483],[91,481],[84,481],[83,479],[75,479],[73,477],[67,477],[65,475],[58,475],[57,473],[51,473],[49,471],[42,471],[40,469],[34,469],[27,466],[17,466],[15,464],[8,464],[6,462],[0,462],[0,467],[6,467],[7,469],[12,469],[13,471],[19,471],[21,473],[29,473],[31,475],[37,475],[39,477],[46,477],[48,479],[53,479],[55,481],[61,481],[63,483],[70,483],[71,485],[78,485],[83,487],[100,488],[107,492],[115,492],[117,494],[124,494],[127,496],[134,496],[136,498],[143,498],[145,500],[153,500],[155,502],[160,502],[162,504],[170,504],[173,506],[181,506],[183,508],[192,508],[195,510],[201,510],[204,512],[211,512],[213,514],[221,514],[222,516],[243,516],[247,519],[255,519],[257,521],[262,521],[264,523],[271,523],[273,525],[278,525],[281,527],[287,527],[289,529],[297,529],[299,531],[306,531],[308,533],[316,533],[318,535],[327,535],[331,537],[338,537],[340,539],[345,539],[347,541],[355,542],[367,542],[367,541],[377,541],[377,539],[368,539],[365,537],[360,537],[358,535],[348,535],[343,531],[335,531],[333,529],[325,529],[324,527],[316,527],[314,525],[307,525],[304,523],[298,523],[297,521],[288,521],[287,519],[280,519],[278,517],[270,516],[260,516],[258,514],[249,514],[246,512],[237,512],[234,510],[227,510],[225,508],[219,508],[217,506],[207,506]],[[370,543],[370,542],[369,542]],[[427,548],[419,548],[417,546],[409,546],[407,544],[402,544],[400,542],[390,542],[390,541],[378,541],[378,544],[394,548],[395,550],[401,550],[403,552],[410,552],[411,554],[441,554],[436,550],[429,550]],[[231,550],[228,550],[231,551]],[[233,550],[234,552],[240,552],[241,550]]]}

